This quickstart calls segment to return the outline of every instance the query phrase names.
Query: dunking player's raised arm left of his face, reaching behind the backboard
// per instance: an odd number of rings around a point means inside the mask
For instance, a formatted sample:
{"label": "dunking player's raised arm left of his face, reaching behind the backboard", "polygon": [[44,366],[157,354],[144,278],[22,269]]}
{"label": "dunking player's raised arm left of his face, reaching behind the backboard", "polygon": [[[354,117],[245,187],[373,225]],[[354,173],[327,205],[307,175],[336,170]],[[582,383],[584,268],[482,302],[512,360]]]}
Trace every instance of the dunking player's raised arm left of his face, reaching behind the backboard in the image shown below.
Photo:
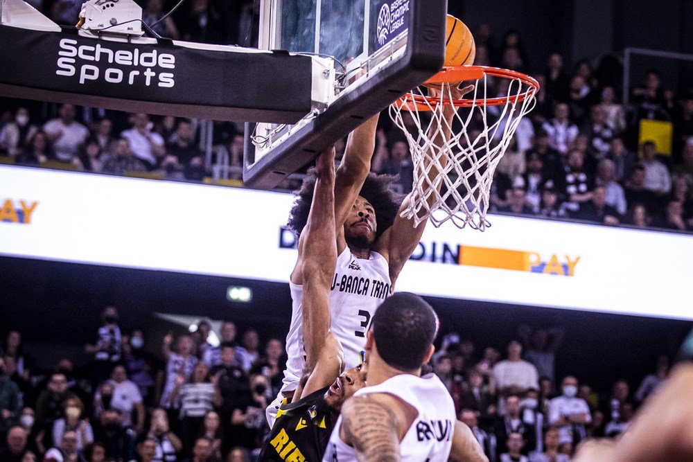
{"label": "dunking player's raised arm left of his face, reaching behind the backboard", "polygon": [[369,118],[356,128],[347,140],[347,151],[335,179],[335,230],[337,252],[347,247],[344,240],[344,222],[353,207],[356,197],[371,171],[371,158],[376,149],[376,127],[380,113]]}

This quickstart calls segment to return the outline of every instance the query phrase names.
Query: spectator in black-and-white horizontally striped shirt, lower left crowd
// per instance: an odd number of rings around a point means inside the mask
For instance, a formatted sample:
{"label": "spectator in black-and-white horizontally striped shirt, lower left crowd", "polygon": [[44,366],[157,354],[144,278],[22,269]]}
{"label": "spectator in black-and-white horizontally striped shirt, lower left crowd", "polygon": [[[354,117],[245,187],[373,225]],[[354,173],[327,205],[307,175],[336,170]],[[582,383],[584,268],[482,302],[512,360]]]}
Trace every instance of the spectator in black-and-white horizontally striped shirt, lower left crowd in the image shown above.
{"label": "spectator in black-and-white horizontally striped shirt, lower left crowd", "polygon": [[170,399],[172,403],[179,403],[176,406],[180,408],[179,436],[184,447],[192,447],[205,414],[213,409],[218,394],[215,388],[215,384],[209,381],[209,366],[204,361],[195,364],[191,380],[187,381],[182,374],[176,375]]}

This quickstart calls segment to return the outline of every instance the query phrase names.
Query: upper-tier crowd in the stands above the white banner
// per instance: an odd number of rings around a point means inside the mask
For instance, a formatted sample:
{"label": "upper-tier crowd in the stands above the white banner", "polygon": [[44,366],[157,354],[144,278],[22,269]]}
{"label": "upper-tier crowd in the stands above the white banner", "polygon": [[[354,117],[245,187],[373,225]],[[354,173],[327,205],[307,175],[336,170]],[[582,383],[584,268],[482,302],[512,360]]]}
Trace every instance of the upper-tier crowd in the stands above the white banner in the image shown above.
{"label": "upper-tier crowd in the stands above the white banner", "polygon": [[[73,22],[80,5],[73,0],[31,3],[62,24]],[[163,16],[162,0],[140,3],[148,24]],[[168,37],[252,45],[254,3],[187,2],[155,28]],[[631,107],[624,107],[617,98],[622,69],[611,55],[594,63],[581,60],[569,69],[560,53],[552,53],[541,66],[529,62],[516,31],[509,30],[497,43],[486,25],[476,31],[475,42],[475,64],[531,72],[541,85],[534,111],[518,126],[495,171],[491,212],[693,231],[693,88],[674,94],[651,69],[631,89]],[[494,80],[491,90],[506,96],[503,83]],[[0,156],[19,165],[202,181],[211,175],[212,163],[228,159],[229,178],[241,178],[243,127],[234,123],[214,123],[213,142],[204,152],[200,121],[194,119],[0,103]],[[643,120],[672,123],[671,152],[658,152],[656,143],[640,139]],[[398,187],[407,193],[414,168],[409,147],[387,116],[380,125],[372,170],[400,175]],[[473,124],[468,130],[475,134],[482,128]]]}

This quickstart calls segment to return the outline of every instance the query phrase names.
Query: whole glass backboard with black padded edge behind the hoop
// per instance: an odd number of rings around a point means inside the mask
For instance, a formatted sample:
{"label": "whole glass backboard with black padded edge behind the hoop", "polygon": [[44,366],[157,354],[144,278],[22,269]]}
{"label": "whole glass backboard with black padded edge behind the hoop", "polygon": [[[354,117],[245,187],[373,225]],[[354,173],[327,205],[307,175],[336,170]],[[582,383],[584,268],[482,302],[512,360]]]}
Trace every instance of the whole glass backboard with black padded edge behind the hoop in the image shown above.
{"label": "whole glass backboard with black padded edge behind the hoop", "polygon": [[439,71],[446,10],[447,0],[262,0],[260,48],[333,58],[334,96],[295,125],[247,123],[245,184],[277,186]]}

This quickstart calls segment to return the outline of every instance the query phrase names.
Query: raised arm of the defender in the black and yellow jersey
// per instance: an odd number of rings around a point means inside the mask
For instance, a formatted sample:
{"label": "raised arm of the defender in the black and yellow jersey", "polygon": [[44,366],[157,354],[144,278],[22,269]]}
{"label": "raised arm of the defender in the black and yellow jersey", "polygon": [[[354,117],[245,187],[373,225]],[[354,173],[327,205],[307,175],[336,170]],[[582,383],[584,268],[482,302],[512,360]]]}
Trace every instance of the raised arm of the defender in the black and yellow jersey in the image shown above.
{"label": "raised arm of the defender in the black and yellow jersey", "polygon": [[[335,242],[335,148],[322,152],[316,161],[315,194],[304,229],[301,278],[302,330],[306,350],[306,372],[311,377],[301,394],[326,387],[340,374],[342,347],[330,330],[330,285],[337,264]],[[317,387],[317,388],[316,388]]]}

